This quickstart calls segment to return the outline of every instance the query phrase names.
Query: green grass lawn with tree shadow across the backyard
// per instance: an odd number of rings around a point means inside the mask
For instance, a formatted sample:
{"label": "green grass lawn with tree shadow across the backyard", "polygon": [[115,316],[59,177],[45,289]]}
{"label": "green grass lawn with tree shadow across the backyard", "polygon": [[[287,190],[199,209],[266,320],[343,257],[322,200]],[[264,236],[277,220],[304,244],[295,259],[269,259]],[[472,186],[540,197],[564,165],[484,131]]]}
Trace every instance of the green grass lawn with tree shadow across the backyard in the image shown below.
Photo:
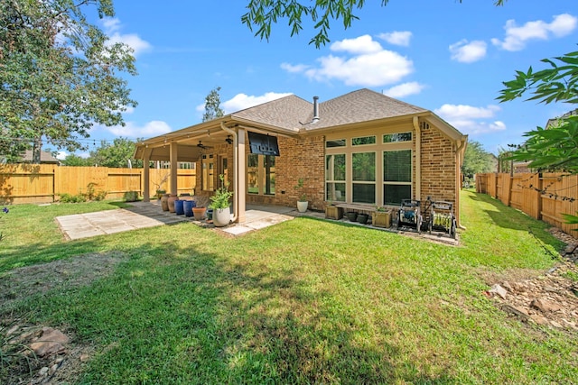
{"label": "green grass lawn with tree shadow across the backyard", "polygon": [[53,219],[116,207],[13,206],[0,219],[0,280],[44,261],[121,259],[89,285],[3,309],[92,346],[80,383],[578,379],[576,335],[520,323],[483,295],[483,277],[547,270],[562,247],[487,196],[462,192],[459,247],[310,217],[238,238],[184,223],[65,242]]}

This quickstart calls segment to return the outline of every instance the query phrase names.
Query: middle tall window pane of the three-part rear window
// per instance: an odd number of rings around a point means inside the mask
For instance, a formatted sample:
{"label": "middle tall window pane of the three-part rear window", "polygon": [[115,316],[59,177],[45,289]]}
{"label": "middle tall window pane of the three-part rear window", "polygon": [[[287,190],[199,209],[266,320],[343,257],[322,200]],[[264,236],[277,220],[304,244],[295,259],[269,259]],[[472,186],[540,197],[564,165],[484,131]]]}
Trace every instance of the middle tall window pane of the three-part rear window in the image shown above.
{"label": "middle tall window pane of the three-part rear window", "polygon": [[[375,139],[375,137],[374,137]],[[376,202],[376,153],[354,152],[351,154],[353,202]]]}

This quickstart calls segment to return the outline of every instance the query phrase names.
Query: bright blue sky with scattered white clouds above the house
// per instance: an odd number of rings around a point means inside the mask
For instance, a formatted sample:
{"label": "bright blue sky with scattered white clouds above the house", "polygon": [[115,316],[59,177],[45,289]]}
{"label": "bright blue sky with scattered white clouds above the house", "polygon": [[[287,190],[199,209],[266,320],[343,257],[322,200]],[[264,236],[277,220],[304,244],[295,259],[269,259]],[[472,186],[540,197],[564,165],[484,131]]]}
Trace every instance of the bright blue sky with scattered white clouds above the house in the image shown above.
{"label": "bright blue sky with scattered white clouds above the house", "polygon": [[380,4],[366,2],[347,30],[334,22],[331,42],[316,49],[307,23],[294,37],[284,20],[269,41],[254,37],[240,21],[247,1],[117,1],[116,17],[96,23],[135,49],[139,75],[127,80],[138,106],[126,126],[96,126],[90,139],[149,138],[200,123],[214,87],[226,113],[288,94],[322,102],[367,87],[432,110],[496,154],[573,108],[495,99],[516,70],[577,50],[574,1]]}

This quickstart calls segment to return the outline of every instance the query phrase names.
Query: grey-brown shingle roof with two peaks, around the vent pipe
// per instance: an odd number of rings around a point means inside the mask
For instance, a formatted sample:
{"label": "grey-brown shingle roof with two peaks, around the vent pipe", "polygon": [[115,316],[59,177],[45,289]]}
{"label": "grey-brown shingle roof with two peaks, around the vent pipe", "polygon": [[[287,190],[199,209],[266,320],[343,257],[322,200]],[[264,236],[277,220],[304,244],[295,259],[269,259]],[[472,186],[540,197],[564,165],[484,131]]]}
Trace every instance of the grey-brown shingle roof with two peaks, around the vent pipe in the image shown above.
{"label": "grey-brown shingle roof with two peaks, around the vent pipe", "polygon": [[363,88],[320,103],[320,119],[314,124],[313,104],[294,95],[256,105],[231,116],[298,131],[302,128],[315,130],[423,112],[427,110]]}

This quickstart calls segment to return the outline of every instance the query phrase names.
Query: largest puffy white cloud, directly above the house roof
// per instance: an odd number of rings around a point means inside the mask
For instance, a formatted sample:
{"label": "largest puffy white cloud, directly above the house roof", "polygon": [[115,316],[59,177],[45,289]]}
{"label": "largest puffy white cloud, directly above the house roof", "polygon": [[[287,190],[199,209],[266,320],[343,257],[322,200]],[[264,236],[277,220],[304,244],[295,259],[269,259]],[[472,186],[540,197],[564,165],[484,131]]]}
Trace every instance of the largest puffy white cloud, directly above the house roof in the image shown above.
{"label": "largest puffy white cloud, directly above the house roof", "polygon": [[[356,44],[359,44],[356,46]],[[414,71],[414,63],[392,50],[384,50],[377,41],[364,35],[331,44],[331,50],[343,54],[319,58],[318,66],[284,63],[281,68],[303,73],[319,82],[340,80],[347,86],[379,87],[399,82]]]}

